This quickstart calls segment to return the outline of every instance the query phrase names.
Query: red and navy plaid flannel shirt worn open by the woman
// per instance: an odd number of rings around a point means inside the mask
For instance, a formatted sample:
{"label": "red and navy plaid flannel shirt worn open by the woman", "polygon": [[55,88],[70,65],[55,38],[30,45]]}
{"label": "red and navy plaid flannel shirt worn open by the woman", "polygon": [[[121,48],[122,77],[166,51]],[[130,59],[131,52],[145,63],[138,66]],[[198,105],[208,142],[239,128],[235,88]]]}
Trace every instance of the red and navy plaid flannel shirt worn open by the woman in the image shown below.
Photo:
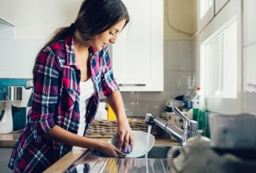
{"label": "red and navy plaid flannel shirt worn open by the woman", "polygon": [[[90,70],[97,92],[86,108],[86,131],[95,117],[99,92],[110,95],[118,90],[107,48],[89,48]],[[58,161],[73,146],[42,138],[42,134],[59,125],[77,134],[79,127],[80,70],[76,64],[73,36],[46,47],[36,62],[33,106],[28,122],[15,143],[9,167],[14,172],[41,172]]]}

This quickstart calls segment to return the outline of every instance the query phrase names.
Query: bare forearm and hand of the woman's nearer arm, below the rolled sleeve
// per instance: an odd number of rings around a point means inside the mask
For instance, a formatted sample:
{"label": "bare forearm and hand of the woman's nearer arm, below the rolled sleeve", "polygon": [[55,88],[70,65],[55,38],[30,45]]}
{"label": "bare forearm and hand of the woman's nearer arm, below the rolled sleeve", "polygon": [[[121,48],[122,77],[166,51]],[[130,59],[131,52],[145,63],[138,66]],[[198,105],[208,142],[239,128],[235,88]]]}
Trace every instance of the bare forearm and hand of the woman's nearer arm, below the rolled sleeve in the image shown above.
{"label": "bare forearm and hand of the woman's nearer arm, below the rolled sleeve", "polygon": [[120,152],[115,146],[104,141],[89,139],[87,137],[78,136],[70,131],[64,130],[58,125],[42,135],[45,139],[58,141],[71,146],[79,146],[91,150],[98,151],[102,156],[117,158],[117,156],[124,157],[124,153]]}

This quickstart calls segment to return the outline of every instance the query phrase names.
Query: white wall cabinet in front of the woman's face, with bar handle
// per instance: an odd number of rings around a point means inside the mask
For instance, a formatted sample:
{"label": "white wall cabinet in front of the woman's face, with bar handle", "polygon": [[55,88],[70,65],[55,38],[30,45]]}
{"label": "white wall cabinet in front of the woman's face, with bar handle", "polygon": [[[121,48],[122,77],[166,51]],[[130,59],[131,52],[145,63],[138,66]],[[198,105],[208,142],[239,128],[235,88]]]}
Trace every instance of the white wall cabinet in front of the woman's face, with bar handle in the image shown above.
{"label": "white wall cabinet in front of the woman's face, with bar handle", "polygon": [[163,0],[126,0],[130,23],[113,45],[121,91],[163,91]]}

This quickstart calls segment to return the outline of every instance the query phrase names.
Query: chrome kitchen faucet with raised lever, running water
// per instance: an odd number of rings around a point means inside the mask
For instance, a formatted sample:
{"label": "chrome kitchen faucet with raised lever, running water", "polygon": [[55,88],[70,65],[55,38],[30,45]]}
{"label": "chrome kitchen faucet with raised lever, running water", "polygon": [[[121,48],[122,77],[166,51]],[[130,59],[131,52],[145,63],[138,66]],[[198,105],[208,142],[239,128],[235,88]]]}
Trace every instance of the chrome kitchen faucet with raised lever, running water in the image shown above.
{"label": "chrome kitchen faucet with raised lever, running water", "polygon": [[168,123],[164,119],[152,113],[146,114],[145,121],[149,125],[157,124],[159,127],[163,128],[164,131],[171,134],[182,144],[190,137],[196,136],[196,130],[198,130],[198,123],[197,121],[193,121],[187,118],[184,114],[182,114],[182,112],[180,112],[177,107],[174,108],[173,112],[183,119],[183,130],[173,124]]}

